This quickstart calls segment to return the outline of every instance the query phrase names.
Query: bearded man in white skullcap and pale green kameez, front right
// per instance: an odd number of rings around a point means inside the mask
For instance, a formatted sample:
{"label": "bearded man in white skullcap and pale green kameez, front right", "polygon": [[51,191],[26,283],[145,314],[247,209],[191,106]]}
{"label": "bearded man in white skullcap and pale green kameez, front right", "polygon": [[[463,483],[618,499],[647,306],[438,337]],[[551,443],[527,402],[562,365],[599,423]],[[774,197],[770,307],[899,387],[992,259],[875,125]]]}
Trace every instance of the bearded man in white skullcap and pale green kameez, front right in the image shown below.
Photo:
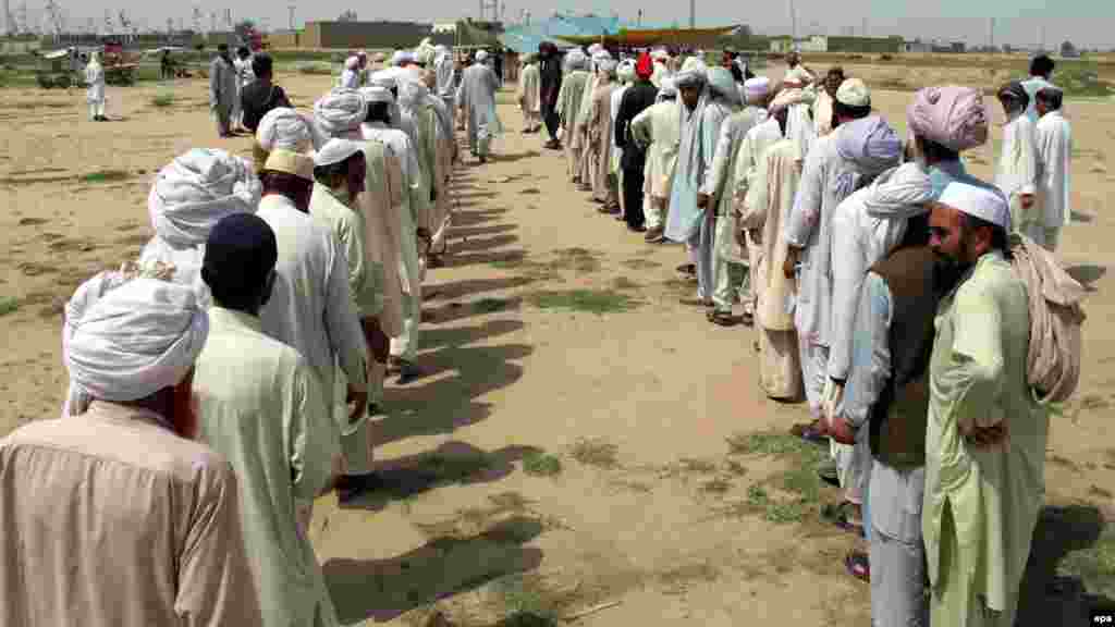
{"label": "bearded man in white skullcap and pale green kameez, front right", "polygon": [[930,625],[1015,624],[1044,504],[1049,413],[1027,383],[1030,316],[997,190],[944,189],[930,245],[962,277],[938,309],[922,532]]}

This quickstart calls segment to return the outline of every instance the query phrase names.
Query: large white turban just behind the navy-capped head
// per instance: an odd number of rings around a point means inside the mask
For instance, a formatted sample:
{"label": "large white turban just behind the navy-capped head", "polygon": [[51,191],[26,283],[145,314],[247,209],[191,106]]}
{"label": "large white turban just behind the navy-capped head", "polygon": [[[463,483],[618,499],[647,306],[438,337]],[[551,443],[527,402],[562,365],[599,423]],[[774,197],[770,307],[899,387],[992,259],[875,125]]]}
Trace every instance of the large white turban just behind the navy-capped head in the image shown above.
{"label": "large white turban just behind the navy-capped head", "polygon": [[175,248],[195,248],[225,215],[255,213],[262,193],[246,160],[194,148],[158,172],[147,211],[158,239]]}

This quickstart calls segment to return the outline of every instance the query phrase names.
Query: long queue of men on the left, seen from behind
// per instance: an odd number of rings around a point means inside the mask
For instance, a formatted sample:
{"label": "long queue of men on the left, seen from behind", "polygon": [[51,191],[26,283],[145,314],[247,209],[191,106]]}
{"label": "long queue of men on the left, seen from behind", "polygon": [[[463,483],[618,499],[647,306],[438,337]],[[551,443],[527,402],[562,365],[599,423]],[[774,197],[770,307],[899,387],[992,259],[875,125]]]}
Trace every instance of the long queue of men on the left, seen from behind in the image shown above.
{"label": "long queue of men on the left, seen from behind", "polygon": [[[424,42],[312,113],[251,59],[236,97],[254,163],[195,148],[158,172],[139,259],[67,303],[64,419],[0,441],[0,624],[338,625],[312,504],[381,485],[369,416],[389,369],[423,376],[454,117],[481,158],[498,131],[476,57],[457,80]],[[225,83],[211,95],[231,135]]]}

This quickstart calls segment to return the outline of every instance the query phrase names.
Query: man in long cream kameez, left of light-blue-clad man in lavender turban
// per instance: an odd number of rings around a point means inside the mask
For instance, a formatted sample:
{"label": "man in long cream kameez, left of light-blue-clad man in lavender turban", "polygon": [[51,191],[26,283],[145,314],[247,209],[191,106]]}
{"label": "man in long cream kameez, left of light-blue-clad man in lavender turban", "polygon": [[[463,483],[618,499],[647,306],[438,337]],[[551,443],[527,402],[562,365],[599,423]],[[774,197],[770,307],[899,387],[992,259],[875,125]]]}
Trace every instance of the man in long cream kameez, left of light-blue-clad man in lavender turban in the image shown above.
{"label": "man in long cream kameez, left of light-blue-clad man in lavender turban", "polygon": [[[785,133],[786,108],[772,118]],[[796,399],[802,395],[802,364],[797,349],[794,314],[787,302],[794,298],[794,279],[783,272],[788,253],[783,224],[794,204],[802,177],[797,146],[779,139],[764,151],[747,189],[739,225],[747,230],[755,282],[755,322],[759,328],[759,387],[770,398]]]}

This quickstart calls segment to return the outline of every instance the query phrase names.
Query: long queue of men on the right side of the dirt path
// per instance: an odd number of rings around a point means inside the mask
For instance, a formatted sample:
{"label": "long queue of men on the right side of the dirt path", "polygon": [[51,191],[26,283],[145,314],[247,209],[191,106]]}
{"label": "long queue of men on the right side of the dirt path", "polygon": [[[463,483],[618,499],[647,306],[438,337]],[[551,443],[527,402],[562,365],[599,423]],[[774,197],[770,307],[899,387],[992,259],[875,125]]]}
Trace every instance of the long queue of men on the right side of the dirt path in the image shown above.
{"label": "long queue of men on the right side of the dirt path", "polygon": [[526,62],[525,132],[545,122],[601,213],[685,244],[682,303],[721,326],[741,303],[767,396],[804,393],[814,421],[792,432],[830,448],[818,480],[843,501],[823,515],[866,539],[845,566],[873,624],[1012,625],[1048,404],[1079,367],[1084,289],[1051,255],[1072,216],[1053,62],[997,93],[993,182],[961,161],[989,136],[977,89],[917,93],[903,141],[863,80],[818,85],[796,54],[778,85],[730,52]]}

